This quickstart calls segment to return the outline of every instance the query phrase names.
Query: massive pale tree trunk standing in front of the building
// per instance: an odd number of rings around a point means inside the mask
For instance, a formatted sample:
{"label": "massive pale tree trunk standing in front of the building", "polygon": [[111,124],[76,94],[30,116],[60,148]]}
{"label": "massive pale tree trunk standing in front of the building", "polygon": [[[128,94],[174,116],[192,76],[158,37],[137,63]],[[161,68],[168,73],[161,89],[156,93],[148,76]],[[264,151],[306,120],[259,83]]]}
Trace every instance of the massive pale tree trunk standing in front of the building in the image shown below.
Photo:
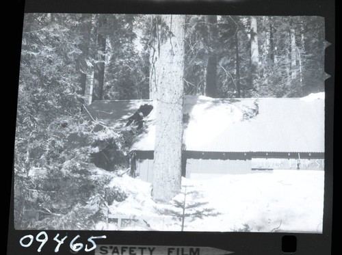
{"label": "massive pale tree trunk standing in front of the building", "polygon": [[164,15],[155,54],[155,155],[152,196],[166,202],[181,191],[185,16]]}

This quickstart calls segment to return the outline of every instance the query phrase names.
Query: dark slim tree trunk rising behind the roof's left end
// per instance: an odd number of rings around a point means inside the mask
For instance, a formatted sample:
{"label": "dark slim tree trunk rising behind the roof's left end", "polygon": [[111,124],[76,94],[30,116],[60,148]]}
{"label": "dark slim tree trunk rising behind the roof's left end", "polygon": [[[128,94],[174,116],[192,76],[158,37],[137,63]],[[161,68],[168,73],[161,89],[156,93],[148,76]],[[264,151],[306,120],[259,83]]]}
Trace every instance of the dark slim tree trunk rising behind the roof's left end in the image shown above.
{"label": "dark slim tree trunk rising behind the roof's left end", "polygon": [[106,24],[106,18],[103,14],[98,17],[97,29],[97,57],[94,65],[94,79],[92,88],[92,101],[101,100],[103,98],[103,81],[105,79],[105,53],[106,53],[106,38],[103,34],[103,27]]}

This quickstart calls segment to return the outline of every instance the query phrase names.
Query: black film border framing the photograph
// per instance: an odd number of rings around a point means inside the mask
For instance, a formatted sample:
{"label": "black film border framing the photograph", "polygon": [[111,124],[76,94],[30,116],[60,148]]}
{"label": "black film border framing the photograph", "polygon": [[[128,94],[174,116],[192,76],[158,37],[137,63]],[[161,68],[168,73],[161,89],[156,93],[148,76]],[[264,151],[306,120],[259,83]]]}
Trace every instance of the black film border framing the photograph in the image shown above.
{"label": "black film border framing the photograph", "polygon": [[[11,142],[7,148],[10,157],[5,158],[13,168],[14,132],[16,119],[16,96],[18,93],[18,71],[20,63],[21,33],[23,27],[24,1],[16,0],[14,7],[14,38],[10,40],[12,51],[10,66],[15,79],[10,81],[8,105],[10,113]],[[331,75],[326,80],[326,176],[324,193],[324,229],[323,234],[295,234],[298,250],[295,254],[330,254],[332,233],[332,174],[333,174],[333,120],[334,120],[334,64],[335,64],[335,2],[334,0],[26,0],[25,12],[77,12],[77,13],[139,13],[139,14],[230,14],[230,15],[314,15],[323,16],[326,22],[326,40],[330,46],[326,49],[325,70]],[[11,15],[11,13],[10,13]],[[14,68],[13,68],[14,66]],[[5,108],[7,110],[7,107]],[[7,136],[7,135],[6,135]],[[11,168],[10,168],[11,167]],[[8,180],[8,183],[9,180]],[[13,185],[13,180],[12,180]],[[12,191],[10,188],[9,191]],[[12,192],[11,192],[12,193]],[[5,194],[6,195],[6,194]],[[9,195],[9,193],[8,193]],[[12,196],[8,205],[13,202]],[[285,233],[248,233],[248,232],[126,232],[126,231],[47,231],[48,243],[42,252],[37,245],[23,248],[18,240],[25,234],[38,234],[38,230],[14,230],[13,204],[10,206],[8,222],[8,254],[54,254],[55,234],[68,237],[81,235],[86,241],[91,235],[107,235],[107,240],[97,243],[116,243],[122,245],[194,245],[211,246],[231,250],[236,254],[284,254],[281,252],[281,239]],[[336,234],[336,229],[334,230]],[[71,254],[65,243],[57,254]],[[37,246],[37,247],[36,247]],[[335,248],[336,250],[336,248]],[[79,252],[78,254],[93,254]]]}

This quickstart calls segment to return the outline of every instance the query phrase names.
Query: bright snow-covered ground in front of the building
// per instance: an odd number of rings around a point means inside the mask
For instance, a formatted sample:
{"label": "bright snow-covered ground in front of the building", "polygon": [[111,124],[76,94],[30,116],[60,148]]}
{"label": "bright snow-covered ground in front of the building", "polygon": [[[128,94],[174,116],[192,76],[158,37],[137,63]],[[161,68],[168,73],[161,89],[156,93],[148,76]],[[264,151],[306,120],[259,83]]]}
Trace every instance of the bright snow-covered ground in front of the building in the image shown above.
{"label": "bright snow-covered ground in front of the building", "polygon": [[[169,204],[154,202],[150,184],[139,179],[116,177],[109,185],[129,194],[109,207],[111,214],[122,215],[120,230],[181,231],[183,211],[176,204],[183,204],[186,193],[184,231],[322,231],[324,171],[183,178],[182,193]],[[100,222],[96,228],[118,230],[118,224]]]}

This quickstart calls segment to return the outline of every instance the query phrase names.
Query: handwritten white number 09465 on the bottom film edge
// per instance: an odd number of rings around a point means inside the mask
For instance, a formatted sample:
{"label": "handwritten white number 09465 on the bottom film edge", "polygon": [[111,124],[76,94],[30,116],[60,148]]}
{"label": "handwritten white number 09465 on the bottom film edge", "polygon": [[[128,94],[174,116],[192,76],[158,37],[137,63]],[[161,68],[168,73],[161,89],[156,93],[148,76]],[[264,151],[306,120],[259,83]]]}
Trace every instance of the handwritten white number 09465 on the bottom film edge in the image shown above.
{"label": "handwritten white number 09465 on the bottom film edge", "polygon": [[[57,242],[57,246],[55,247],[55,252],[60,251],[60,246],[64,243],[66,238],[68,236],[63,237],[62,239],[58,239],[60,237],[60,234],[56,234],[56,236],[53,238],[53,241]],[[79,234],[72,240],[70,241],[70,249],[73,250],[74,252],[79,252],[83,248],[83,243],[75,243],[77,239],[79,239]],[[94,242],[94,239],[105,239],[107,238],[106,236],[100,236],[100,237],[89,237],[88,242],[92,244],[91,247],[88,247],[88,244],[86,244],[86,248],[84,249],[86,252],[91,252],[92,250],[95,250],[96,248],[96,243]],[[28,240],[28,241],[27,241]],[[42,251],[42,247],[44,246],[45,243],[49,240],[49,237],[47,235],[47,232],[42,231],[39,232],[36,236],[36,241],[40,242],[41,244],[38,247],[37,252]],[[19,241],[21,246],[23,247],[29,247],[31,244],[34,242],[34,236],[32,234],[27,234],[24,237],[22,237]]]}

